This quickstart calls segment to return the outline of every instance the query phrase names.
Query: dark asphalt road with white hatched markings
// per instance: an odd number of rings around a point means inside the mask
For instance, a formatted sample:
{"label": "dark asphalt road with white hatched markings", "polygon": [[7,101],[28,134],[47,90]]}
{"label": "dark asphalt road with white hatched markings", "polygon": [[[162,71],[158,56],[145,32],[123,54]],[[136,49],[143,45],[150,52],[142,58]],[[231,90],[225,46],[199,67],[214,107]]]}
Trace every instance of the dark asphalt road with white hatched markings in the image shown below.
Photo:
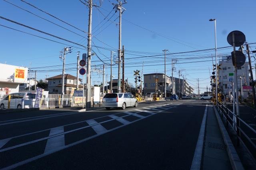
{"label": "dark asphalt road with white hatched markings", "polygon": [[0,169],[190,169],[206,103],[0,115]]}

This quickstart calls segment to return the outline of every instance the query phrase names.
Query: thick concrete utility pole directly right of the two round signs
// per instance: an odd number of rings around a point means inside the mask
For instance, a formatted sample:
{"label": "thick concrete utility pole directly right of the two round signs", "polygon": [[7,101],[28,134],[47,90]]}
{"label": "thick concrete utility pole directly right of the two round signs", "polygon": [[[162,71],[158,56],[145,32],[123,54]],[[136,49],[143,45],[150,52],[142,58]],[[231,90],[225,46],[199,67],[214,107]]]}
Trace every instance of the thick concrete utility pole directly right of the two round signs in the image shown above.
{"label": "thick concrete utility pole directly right of the two round signs", "polygon": [[[92,40],[92,0],[88,2],[89,20],[88,20],[88,43],[87,43],[87,74],[86,74],[86,108],[91,106],[91,40]],[[84,90],[84,89],[83,89]]]}

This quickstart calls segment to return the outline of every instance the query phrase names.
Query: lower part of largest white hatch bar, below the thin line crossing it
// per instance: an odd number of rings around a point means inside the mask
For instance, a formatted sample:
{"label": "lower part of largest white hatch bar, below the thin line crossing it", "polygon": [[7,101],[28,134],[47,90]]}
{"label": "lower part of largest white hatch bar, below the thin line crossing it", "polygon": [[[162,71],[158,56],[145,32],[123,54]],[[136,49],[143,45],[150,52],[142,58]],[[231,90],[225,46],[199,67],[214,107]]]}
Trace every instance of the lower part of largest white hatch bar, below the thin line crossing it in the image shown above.
{"label": "lower part of largest white hatch bar, below the thin line crossing it", "polygon": [[54,149],[63,148],[65,146],[64,134],[49,138],[46,143],[44,153],[51,152]]}

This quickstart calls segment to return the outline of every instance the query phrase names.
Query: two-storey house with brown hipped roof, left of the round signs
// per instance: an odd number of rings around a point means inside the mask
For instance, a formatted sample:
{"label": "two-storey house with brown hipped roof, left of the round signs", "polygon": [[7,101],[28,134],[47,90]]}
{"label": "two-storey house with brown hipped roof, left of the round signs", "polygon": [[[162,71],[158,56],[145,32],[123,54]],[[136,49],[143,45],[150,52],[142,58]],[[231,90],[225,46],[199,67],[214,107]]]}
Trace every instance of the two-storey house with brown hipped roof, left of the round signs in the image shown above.
{"label": "two-storey house with brown hipped roof, left of the round signs", "polygon": [[[54,77],[49,77],[46,80],[48,80],[48,91],[49,94],[61,94],[62,91],[62,74],[56,75]],[[77,82],[77,79],[75,76],[70,74],[64,75],[64,93],[70,94],[72,87],[76,88],[76,83],[78,83],[78,89],[82,90],[83,86],[81,85],[82,79],[79,79]],[[84,88],[86,88],[86,85],[84,85]]]}

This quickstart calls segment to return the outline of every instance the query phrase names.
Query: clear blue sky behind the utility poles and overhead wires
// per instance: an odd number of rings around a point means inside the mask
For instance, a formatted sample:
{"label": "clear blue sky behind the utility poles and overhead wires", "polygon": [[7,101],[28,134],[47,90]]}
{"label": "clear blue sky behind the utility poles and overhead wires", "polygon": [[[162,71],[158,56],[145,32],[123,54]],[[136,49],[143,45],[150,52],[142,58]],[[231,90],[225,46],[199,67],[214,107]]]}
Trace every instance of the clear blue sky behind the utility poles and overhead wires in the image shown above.
{"label": "clear blue sky behind the utility poles and overhead wires", "polygon": [[[65,38],[72,42],[87,45],[87,40],[82,37],[87,37],[85,33],[40,12],[20,0],[6,1],[12,2],[38,16],[68,28],[81,36],[42,20],[4,0],[0,0],[0,16]],[[88,8],[79,0],[26,1],[88,32]],[[113,5],[110,2],[116,3],[115,0],[104,0],[101,8],[93,8],[92,35],[96,36],[100,41],[96,38],[92,38],[92,41],[96,46],[118,49],[118,25],[115,24],[118,23],[118,19],[115,20],[118,17],[118,12],[116,14],[114,13],[115,10],[112,10]],[[94,3],[99,4],[99,1],[94,0]],[[238,0],[198,0],[196,2],[190,0],[175,2],[169,0],[129,0],[127,4],[124,4],[123,7],[126,8],[126,11],[122,14],[122,45],[124,45],[125,50],[128,50],[125,54],[126,78],[128,77],[129,82],[134,82],[133,70],[142,70],[142,62],[144,62],[144,65],[150,65],[144,67],[143,73],[164,72],[164,65],[157,65],[164,63],[163,56],[141,57],[138,55],[160,55],[163,54],[163,49],[168,49],[169,53],[177,53],[214,48],[214,22],[209,22],[208,20],[210,18],[216,18],[217,22],[217,47],[229,46],[226,37],[228,33],[233,30],[244,32],[248,43],[256,42],[255,6],[255,0],[247,0],[246,3],[242,3]],[[104,16],[101,13],[103,13]],[[110,19],[111,21],[108,21],[108,19],[104,20],[105,16],[109,13],[108,18],[113,15]],[[6,20],[0,19],[0,24],[72,45],[72,43],[58,40]],[[30,62],[32,62],[32,67],[62,64],[59,59],[59,51],[67,45],[36,38],[2,26],[0,26],[0,36],[0,45],[2,47],[0,53],[1,63],[6,61],[11,65],[23,65],[26,67],[29,67]],[[253,44],[251,47],[255,50],[256,45]],[[109,50],[97,49],[96,47],[92,49],[102,60],[105,61],[109,59]],[[74,68],[74,70],[66,71],[66,73],[72,75],[76,75],[76,65],[72,65],[72,63],[76,63],[76,51],[86,53],[85,49],[73,47],[72,53],[66,55],[66,63],[70,64],[66,65],[66,67],[69,69]],[[139,51],[144,53],[138,53]],[[230,54],[231,51],[232,48],[222,49],[218,50],[218,54]],[[200,78],[200,93],[206,91],[206,85],[208,85],[208,87],[210,85],[210,79],[208,79],[208,77],[210,76],[209,67],[212,67],[212,61],[198,63],[188,62],[211,60],[211,55],[214,55],[214,51],[167,55],[167,75],[171,75],[171,59],[176,58],[178,59],[178,63],[175,64],[176,72],[174,72],[174,76],[178,77],[178,70],[183,69],[182,74],[186,74],[188,82],[194,87],[196,93],[198,91],[196,89],[197,78]],[[191,59],[191,57],[203,58]],[[95,55],[92,57],[92,61],[94,61],[92,62],[93,64],[97,65],[97,68],[102,69],[102,62],[99,61]],[[254,59],[252,59],[252,61],[254,61]],[[106,63],[109,62],[106,61]],[[253,62],[253,64],[254,63],[255,62]],[[109,80],[110,67],[106,67],[106,74],[108,74]],[[52,69],[58,70],[54,72],[48,71]],[[62,73],[61,66],[38,68],[37,70],[45,71],[38,71],[38,79],[45,79],[46,74],[50,77]],[[117,78],[117,65],[113,66],[113,73]],[[82,76],[80,76],[80,78],[81,77]],[[92,84],[98,84],[101,81],[102,75],[98,75],[97,73],[92,74]]]}

